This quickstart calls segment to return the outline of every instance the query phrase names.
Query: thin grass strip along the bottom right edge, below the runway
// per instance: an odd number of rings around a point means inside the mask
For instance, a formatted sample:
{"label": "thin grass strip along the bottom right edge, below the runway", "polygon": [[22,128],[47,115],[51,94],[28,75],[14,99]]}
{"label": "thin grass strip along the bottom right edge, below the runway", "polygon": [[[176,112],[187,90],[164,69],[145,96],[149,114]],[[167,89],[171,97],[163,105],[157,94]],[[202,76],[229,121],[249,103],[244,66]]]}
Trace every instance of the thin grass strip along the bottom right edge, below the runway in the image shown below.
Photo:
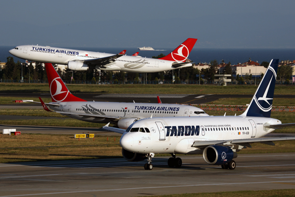
{"label": "thin grass strip along the bottom right edge, below the runway", "polygon": [[149,197],[295,197],[295,189],[175,194]]}

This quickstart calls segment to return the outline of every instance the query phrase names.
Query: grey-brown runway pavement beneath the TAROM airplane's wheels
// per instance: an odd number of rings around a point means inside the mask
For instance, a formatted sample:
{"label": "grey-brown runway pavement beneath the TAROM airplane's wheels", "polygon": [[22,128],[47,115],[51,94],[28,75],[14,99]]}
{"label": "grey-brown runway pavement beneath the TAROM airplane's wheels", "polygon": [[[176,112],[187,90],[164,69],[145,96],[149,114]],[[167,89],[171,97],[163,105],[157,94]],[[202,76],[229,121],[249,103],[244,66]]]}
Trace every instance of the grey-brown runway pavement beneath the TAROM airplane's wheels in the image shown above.
{"label": "grey-brown runway pavement beneath the TAROM airplane's wheels", "polygon": [[295,154],[253,154],[235,159],[236,169],[181,156],[180,168],[155,157],[154,168],[124,159],[0,164],[0,197],[135,197],[201,192],[295,189]]}

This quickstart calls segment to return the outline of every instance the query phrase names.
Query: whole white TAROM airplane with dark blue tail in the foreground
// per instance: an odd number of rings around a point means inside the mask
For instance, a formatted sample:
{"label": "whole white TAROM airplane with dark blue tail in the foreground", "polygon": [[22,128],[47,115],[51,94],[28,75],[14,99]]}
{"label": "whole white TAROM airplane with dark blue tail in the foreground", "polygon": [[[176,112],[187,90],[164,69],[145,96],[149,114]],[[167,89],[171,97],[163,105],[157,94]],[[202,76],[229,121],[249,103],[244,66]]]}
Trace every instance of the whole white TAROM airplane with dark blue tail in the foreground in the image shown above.
{"label": "whole white TAROM airplane with dark blue tail in the foreground", "polygon": [[123,157],[133,162],[148,159],[145,169],[152,169],[150,162],[155,153],[171,154],[170,167],[182,164],[175,154],[203,154],[207,164],[235,169],[236,152],[251,147],[250,143],[274,145],[272,141],[295,139],[263,137],[275,129],[295,126],[270,118],[277,68],[278,60],[272,60],[250,105],[239,116],[152,117],[133,123],[126,131],[108,125],[103,128],[123,133]]}

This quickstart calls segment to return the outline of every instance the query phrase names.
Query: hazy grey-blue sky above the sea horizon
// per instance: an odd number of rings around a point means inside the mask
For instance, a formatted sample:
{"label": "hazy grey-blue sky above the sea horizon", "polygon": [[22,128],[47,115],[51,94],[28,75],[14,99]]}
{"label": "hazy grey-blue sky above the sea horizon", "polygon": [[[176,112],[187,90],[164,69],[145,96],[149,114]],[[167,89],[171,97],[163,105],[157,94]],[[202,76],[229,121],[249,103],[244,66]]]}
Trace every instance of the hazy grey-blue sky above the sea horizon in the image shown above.
{"label": "hazy grey-blue sky above the sea horizon", "polygon": [[294,0],[0,0],[0,46],[295,48]]}

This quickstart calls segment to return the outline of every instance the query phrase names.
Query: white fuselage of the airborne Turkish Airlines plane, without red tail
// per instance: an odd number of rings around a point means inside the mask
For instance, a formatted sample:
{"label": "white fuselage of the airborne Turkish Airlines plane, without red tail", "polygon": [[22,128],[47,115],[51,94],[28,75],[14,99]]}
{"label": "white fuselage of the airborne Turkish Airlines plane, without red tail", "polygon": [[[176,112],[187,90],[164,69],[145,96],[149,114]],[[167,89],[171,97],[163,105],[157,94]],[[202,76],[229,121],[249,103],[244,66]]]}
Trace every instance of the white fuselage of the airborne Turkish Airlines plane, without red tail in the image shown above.
{"label": "white fuselage of the airborne Turkish Airlines plane, without red tail", "polygon": [[[53,63],[60,65],[68,65],[72,63],[82,63],[85,60],[94,60],[98,58],[109,57],[115,54],[100,53],[83,50],[73,50],[65,48],[57,48],[50,46],[38,45],[22,45],[17,46],[9,51],[12,55],[29,61]],[[92,68],[106,71],[127,71],[127,72],[161,72],[165,70],[176,69],[172,66],[175,61],[159,60],[152,58],[143,58],[140,56],[121,56],[116,61],[110,62],[107,65],[93,65]],[[181,67],[192,66],[187,63]],[[179,67],[177,67],[179,68]],[[88,66],[84,64],[83,68],[78,67],[77,70],[87,70]]]}

